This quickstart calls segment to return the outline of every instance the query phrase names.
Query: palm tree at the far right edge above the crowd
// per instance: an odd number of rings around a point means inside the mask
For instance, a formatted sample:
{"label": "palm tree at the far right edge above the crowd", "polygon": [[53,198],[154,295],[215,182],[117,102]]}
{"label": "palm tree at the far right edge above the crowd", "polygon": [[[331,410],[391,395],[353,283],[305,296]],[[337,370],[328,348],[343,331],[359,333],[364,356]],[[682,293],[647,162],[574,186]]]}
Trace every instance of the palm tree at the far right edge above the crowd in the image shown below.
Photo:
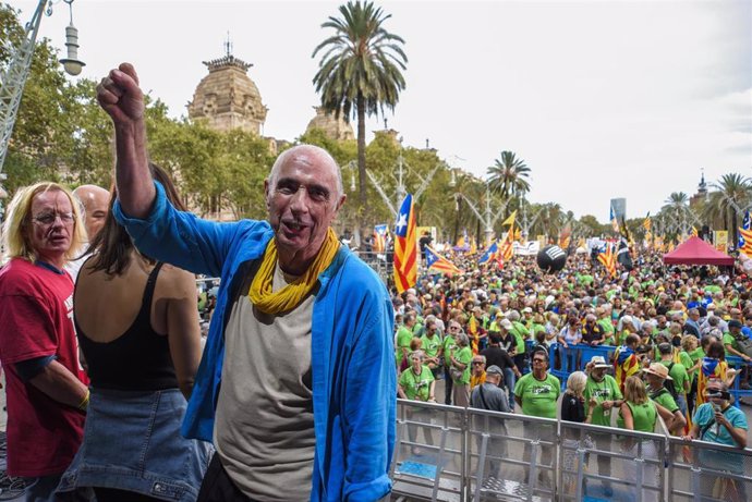
{"label": "palm tree at the far right edge above the crowd", "polygon": [[705,217],[708,220],[720,220],[728,230],[730,242],[738,242],[737,221],[739,211],[748,206],[752,198],[752,184],[749,177],[738,173],[724,174],[717,183],[712,183],[705,206]]}

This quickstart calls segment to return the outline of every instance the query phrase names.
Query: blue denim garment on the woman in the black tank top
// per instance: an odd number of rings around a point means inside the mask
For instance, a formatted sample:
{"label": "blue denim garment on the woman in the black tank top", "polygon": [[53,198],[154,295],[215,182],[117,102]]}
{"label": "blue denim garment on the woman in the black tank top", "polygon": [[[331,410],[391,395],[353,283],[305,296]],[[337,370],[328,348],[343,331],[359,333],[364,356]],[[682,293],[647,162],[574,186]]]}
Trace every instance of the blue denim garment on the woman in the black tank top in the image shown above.
{"label": "blue denim garment on the woman in the black tank top", "polygon": [[84,442],[60,491],[101,487],[193,502],[214,449],[180,433],[185,397],[178,389],[92,389]]}

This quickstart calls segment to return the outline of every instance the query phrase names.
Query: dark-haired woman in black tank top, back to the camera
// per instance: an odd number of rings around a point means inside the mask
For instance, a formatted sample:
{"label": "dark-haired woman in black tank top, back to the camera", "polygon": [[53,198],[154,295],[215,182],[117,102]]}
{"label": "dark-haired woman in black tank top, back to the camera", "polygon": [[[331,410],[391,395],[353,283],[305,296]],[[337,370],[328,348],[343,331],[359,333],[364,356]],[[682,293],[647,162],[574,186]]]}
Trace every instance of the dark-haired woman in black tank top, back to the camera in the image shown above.
{"label": "dark-haired woman in black tank top, back to the camera", "polygon": [[[170,203],[172,182],[151,164]],[[193,274],[142,255],[110,212],[78,276],[73,320],[88,364],[84,442],[58,491],[93,487],[99,502],[194,501],[210,446],[180,425],[201,359]]]}

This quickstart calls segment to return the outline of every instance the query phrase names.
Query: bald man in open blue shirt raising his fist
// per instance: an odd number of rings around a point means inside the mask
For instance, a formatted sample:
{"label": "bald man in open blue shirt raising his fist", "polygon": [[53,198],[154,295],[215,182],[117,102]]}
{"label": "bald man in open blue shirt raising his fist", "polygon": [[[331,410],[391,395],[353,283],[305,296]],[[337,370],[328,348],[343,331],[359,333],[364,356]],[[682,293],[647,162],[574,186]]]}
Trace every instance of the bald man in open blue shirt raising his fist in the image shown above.
{"label": "bald man in open blue shirt raising his fist", "polygon": [[202,220],[174,209],[151,177],[133,66],[111,71],[97,98],[116,131],[113,216],[148,256],[221,274],[183,421],[186,437],[217,449],[198,502],[386,495],[392,307],[331,229],[345,199],[335,159],[311,145],[282,152],[264,182],[268,221]]}

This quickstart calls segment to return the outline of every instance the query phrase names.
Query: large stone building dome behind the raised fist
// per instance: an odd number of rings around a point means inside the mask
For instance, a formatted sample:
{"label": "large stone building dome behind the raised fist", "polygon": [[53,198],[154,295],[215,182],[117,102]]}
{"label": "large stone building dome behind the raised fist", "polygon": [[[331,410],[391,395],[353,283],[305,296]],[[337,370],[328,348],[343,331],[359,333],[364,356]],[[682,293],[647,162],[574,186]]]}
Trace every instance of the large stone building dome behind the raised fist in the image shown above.
{"label": "large stone building dome behind the raised fist", "polygon": [[252,64],[229,51],[223,58],[204,61],[209,69],[196,87],[187,110],[191,119],[204,119],[210,127],[242,128],[262,135],[268,109],[256,84],[248,77]]}

